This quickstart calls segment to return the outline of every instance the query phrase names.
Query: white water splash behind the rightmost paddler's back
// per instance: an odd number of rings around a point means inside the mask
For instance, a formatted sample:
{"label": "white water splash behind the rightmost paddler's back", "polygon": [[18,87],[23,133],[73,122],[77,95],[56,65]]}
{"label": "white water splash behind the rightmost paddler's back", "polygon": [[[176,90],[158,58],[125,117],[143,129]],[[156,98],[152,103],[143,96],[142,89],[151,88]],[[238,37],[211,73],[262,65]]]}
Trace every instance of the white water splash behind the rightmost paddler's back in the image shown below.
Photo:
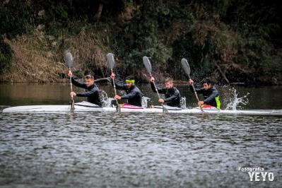
{"label": "white water splash behind the rightmost paddler's back", "polygon": [[230,96],[225,110],[237,110],[237,107],[242,107],[242,105],[247,105],[249,103],[249,99],[247,98],[249,93],[240,98],[238,97],[239,93],[237,93],[235,88],[230,88],[229,90]]}

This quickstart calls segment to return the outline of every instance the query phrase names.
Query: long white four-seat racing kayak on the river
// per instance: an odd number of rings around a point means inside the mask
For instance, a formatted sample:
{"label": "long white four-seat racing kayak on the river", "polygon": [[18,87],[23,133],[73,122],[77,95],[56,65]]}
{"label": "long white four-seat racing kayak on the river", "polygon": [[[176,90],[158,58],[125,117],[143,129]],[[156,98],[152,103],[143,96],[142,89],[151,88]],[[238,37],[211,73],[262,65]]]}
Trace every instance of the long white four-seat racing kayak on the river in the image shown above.
{"label": "long white four-seat racing kayak on the river", "polygon": [[[168,113],[182,114],[257,114],[257,115],[278,115],[282,116],[282,110],[218,110],[216,107],[199,107],[192,109],[182,109],[180,107],[169,107],[165,105]],[[76,102],[73,112],[116,112],[116,107],[100,107],[90,102]],[[25,112],[71,112],[70,105],[31,105],[7,107],[3,110],[4,113],[25,113]],[[153,106],[150,108],[136,107],[129,104],[121,105],[121,112],[143,112],[143,113],[163,113],[162,106]]]}

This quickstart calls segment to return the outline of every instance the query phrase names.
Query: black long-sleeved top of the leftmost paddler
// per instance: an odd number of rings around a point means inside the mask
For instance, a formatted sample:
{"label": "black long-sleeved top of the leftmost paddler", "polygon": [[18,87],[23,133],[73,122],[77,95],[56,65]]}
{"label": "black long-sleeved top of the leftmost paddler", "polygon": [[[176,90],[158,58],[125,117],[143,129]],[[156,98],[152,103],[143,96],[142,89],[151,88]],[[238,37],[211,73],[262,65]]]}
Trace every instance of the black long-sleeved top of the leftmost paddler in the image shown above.
{"label": "black long-sleeved top of the leftmost paddler", "polygon": [[76,93],[77,97],[86,97],[88,102],[102,106],[102,101],[99,97],[99,88],[95,84],[90,87],[87,87],[86,83],[78,82],[73,77],[71,77],[71,83],[73,83],[74,86],[86,89],[86,92]]}

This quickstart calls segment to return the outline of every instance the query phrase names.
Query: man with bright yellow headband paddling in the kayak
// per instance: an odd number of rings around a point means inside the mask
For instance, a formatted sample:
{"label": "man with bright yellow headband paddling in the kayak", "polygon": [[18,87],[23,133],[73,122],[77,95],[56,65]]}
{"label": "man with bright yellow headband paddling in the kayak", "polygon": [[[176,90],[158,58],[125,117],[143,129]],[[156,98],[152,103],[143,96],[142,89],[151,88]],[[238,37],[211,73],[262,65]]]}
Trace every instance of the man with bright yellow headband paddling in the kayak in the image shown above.
{"label": "man with bright yellow headband paddling in the kayak", "polygon": [[[114,73],[111,74],[110,78],[112,78],[112,85],[113,85],[113,80],[114,80]],[[142,106],[142,93],[135,86],[135,80],[134,76],[127,76],[125,79],[125,84],[119,84],[116,81],[114,81],[115,86],[118,90],[125,90],[127,94],[119,96],[115,95],[114,99],[121,100],[121,99],[127,99],[127,102],[129,105],[134,105],[141,107]]]}

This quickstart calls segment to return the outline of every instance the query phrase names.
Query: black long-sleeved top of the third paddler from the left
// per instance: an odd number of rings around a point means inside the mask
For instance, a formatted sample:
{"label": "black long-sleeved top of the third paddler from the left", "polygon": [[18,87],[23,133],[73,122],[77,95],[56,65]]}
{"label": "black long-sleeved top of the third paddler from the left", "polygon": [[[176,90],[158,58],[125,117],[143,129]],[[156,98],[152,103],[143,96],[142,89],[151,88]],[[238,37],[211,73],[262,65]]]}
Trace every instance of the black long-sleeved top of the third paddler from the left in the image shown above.
{"label": "black long-sleeved top of the third paddler from the left", "polygon": [[[153,82],[151,82],[151,88],[153,92],[156,93]],[[177,90],[177,88],[172,87],[170,89],[167,88],[157,88],[157,89],[158,89],[158,93],[165,94],[165,103],[167,103],[168,106],[181,107],[180,105],[181,95],[180,95],[180,91]]]}

